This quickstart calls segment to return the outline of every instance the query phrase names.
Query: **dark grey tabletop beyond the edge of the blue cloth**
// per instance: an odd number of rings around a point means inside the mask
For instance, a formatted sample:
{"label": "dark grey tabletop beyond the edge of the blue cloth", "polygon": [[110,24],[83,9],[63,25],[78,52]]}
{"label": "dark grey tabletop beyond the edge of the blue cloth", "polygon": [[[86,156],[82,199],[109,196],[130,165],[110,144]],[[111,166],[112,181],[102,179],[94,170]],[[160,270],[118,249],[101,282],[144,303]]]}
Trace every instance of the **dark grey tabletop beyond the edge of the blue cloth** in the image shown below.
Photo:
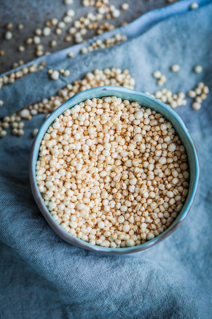
{"label": "dark grey tabletop beyond the edge of the blue cloth", "polygon": [[[168,5],[166,0],[111,0],[110,4],[114,4],[120,9],[121,4],[124,2],[129,4],[129,9],[127,11],[121,10],[119,18],[110,20],[104,19],[98,24],[107,21],[117,27],[124,21],[131,22],[147,11]],[[0,0],[0,50],[5,51],[4,56],[0,56],[0,73],[11,69],[12,63],[18,62],[19,59],[24,60],[26,63],[36,58],[35,45],[27,46],[25,40],[34,35],[33,31],[35,28],[43,28],[47,20],[53,17],[61,20],[68,9],[74,9],[75,11],[73,21],[81,16],[85,16],[88,12],[95,13],[97,11],[96,7],[83,7],[81,0],[74,0],[74,3],[68,6],[63,3],[63,0]],[[13,38],[10,41],[6,41],[4,39],[4,33],[6,31],[5,25],[9,22],[13,24],[13,28],[11,29]],[[23,30],[18,30],[18,24],[20,23],[24,24]],[[52,33],[50,36],[42,36],[41,44],[44,46],[44,52],[55,52],[59,49],[71,46],[74,43],[73,41],[66,42],[64,40],[65,36],[68,34],[67,30],[71,25],[72,22],[67,24],[66,28],[62,30],[61,35],[56,35],[53,32],[56,28],[53,26],[51,28]],[[84,36],[84,39],[88,39],[94,35],[95,30],[92,30]],[[57,46],[51,48],[49,42],[53,39],[57,41]],[[24,52],[18,51],[19,45],[25,46]]]}

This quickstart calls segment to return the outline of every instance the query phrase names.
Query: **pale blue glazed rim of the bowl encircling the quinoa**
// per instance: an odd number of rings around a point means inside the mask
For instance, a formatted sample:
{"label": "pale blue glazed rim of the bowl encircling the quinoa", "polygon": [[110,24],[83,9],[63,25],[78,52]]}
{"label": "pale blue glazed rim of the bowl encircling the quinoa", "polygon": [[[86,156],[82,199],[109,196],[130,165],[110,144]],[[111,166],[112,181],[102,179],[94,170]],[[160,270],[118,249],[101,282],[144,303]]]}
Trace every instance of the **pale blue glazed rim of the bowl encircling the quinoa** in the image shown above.
{"label": "pale blue glazed rim of the bowl encircling the quinoa", "polygon": [[[178,221],[176,223],[173,222],[162,234],[159,234],[158,236],[156,236],[152,240],[147,241],[147,242],[140,244],[140,245],[137,245],[137,246],[133,246],[133,247],[122,247],[122,248],[121,247],[120,248],[102,247],[102,246],[90,244],[86,241],[83,241],[83,240],[69,234],[65,229],[63,229],[53,219],[51,213],[47,209],[47,206],[44,205],[41,193],[38,189],[38,185],[36,182],[35,167],[36,167],[36,162],[38,159],[40,142],[43,139],[44,134],[48,130],[49,126],[54,122],[55,118],[58,117],[63,112],[65,112],[66,109],[73,107],[74,105],[80,103],[80,101],[86,100],[86,98],[88,98],[86,96],[90,95],[91,93],[94,95],[94,97],[95,97],[95,94],[98,94],[98,93],[99,94],[102,93],[102,97],[103,96],[110,96],[111,93],[107,94],[106,93],[107,91],[113,92],[114,93],[113,95],[115,95],[115,96],[118,96],[119,93],[126,94],[128,96],[128,98],[126,98],[127,100],[133,100],[133,95],[139,95],[140,97],[143,97],[147,100],[151,100],[154,103],[158,104],[163,110],[166,110],[179,122],[182,130],[184,131],[184,134],[187,137],[188,142],[191,145],[193,156],[194,156],[194,166],[195,166],[194,187],[191,191],[190,198],[188,200],[187,205],[183,206],[182,211],[180,211],[180,213],[178,215],[178,218],[179,218]],[[130,99],[129,99],[129,96],[131,96]],[[136,98],[135,98],[135,101],[136,101]],[[30,184],[31,184],[31,188],[32,188],[33,197],[34,197],[40,211],[42,212],[43,216],[45,217],[49,226],[54,230],[54,232],[63,240],[65,240],[68,243],[71,243],[75,246],[78,246],[80,248],[84,248],[84,249],[88,249],[91,251],[96,251],[96,252],[104,253],[104,254],[118,254],[118,255],[119,254],[135,253],[138,251],[145,250],[145,249],[150,248],[153,245],[159,243],[160,241],[164,240],[167,236],[169,236],[171,233],[173,233],[173,231],[176,230],[180,226],[182,221],[186,218],[186,216],[189,212],[189,209],[194,201],[194,196],[195,196],[197,186],[198,186],[198,181],[199,181],[199,174],[200,174],[200,169],[199,169],[199,161],[198,161],[196,148],[195,148],[194,142],[193,142],[192,138],[190,137],[190,135],[187,131],[187,128],[186,128],[184,122],[182,121],[182,119],[180,118],[180,116],[177,113],[175,113],[172,108],[168,107],[163,102],[156,100],[155,98],[153,98],[150,95],[147,95],[145,93],[142,93],[142,92],[139,92],[136,90],[131,90],[131,89],[128,89],[128,88],[125,88],[122,86],[112,86],[112,85],[98,86],[98,87],[91,88],[91,89],[82,91],[80,93],[77,93],[74,96],[72,96],[70,99],[68,99],[66,102],[62,103],[60,105],[60,107],[58,107],[56,110],[54,110],[47,117],[47,119],[44,121],[44,123],[41,125],[36,137],[34,138],[32,148],[31,148],[30,166],[29,166]]]}

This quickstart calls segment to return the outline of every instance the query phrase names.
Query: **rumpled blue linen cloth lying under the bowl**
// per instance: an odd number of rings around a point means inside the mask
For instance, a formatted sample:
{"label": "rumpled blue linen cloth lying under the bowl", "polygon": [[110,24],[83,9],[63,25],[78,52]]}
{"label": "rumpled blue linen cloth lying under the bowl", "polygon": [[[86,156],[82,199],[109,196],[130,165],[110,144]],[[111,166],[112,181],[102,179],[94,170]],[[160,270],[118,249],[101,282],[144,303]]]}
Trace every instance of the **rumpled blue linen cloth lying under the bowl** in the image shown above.
{"label": "rumpled blue linen cloth lying under the bowl", "polygon": [[[198,81],[212,87],[212,4],[180,1],[145,14],[120,31],[129,40],[66,58],[67,49],[46,57],[47,66],[0,90],[0,117],[46,96],[95,68],[128,68],[136,89],[155,92],[152,72],[167,76],[166,88],[187,92]],[[77,53],[81,45],[74,46]],[[70,49],[68,50],[70,51]],[[179,73],[170,72],[173,63]],[[201,64],[203,71],[192,68]],[[51,81],[47,70],[70,69]],[[28,176],[31,132],[44,115],[25,123],[25,135],[0,140],[1,318],[211,318],[212,109],[211,93],[200,111],[176,112],[185,122],[200,159],[194,204],[168,238],[134,255],[105,256],[72,246],[48,226],[32,196]]]}

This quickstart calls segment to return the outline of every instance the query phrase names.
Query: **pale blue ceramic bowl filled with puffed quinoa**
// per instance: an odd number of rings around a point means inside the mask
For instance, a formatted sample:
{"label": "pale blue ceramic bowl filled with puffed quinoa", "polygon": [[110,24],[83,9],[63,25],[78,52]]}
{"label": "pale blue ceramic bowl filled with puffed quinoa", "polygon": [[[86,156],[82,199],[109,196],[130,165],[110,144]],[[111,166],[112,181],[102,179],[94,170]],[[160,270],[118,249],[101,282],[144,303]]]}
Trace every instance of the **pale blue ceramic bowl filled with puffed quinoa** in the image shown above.
{"label": "pale blue ceramic bowl filled with puffed quinoa", "polygon": [[[56,221],[54,221],[54,219],[52,218],[52,215],[48,211],[47,207],[44,205],[42,196],[37,186],[36,172],[35,172],[40,143],[44,137],[44,134],[48,130],[49,126],[54,122],[55,118],[58,117],[60,114],[62,114],[66,109],[72,108],[74,105],[80,103],[81,101],[84,101],[86,99],[92,99],[93,97],[99,98],[99,97],[111,96],[111,95],[115,95],[117,97],[120,97],[121,99],[137,101],[142,106],[154,109],[156,112],[162,114],[168,121],[170,121],[173,124],[173,127],[176,130],[176,133],[180,137],[182,144],[186,148],[188,163],[189,163],[189,170],[190,170],[190,184],[189,184],[189,191],[186,198],[186,202],[182,210],[180,211],[179,215],[177,216],[177,218],[174,219],[171,226],[169,226],[162,234],[153,238],[150,241],[145,242],[144,244],[134,246],[134,247],[126,247],[126,248],[106,248],[106,247],[101,247],[97,245],[91,245],[88,242],[82,241],[81,239],[78,239],[72,236],[71,234],[69,234],[67,231],[65,231],[60,225],[56,223]],[[85,248],[88,250],[97,251],[97,252],[101,252],[105,254],[135,253],[137,251],[147,249],[155,245],[159,241],[165,239],[181,224],[181,222],[187,216],[187,213],[194,200],[194,196],[197,190],[198,180],[199,180],[199,163],[198,163],[197,152],[194,146],[194,142],[192,141],[190,135],[188,134],[185,124],[183,123],[181,118],[166,104],[152,98],[149,95],[146,95],[138,91],[126,89],[124,87],[100,86],[100,87],[95,87],[95,88],[80,92],[78,94],[75,94],[72,98],[70,98],[65,103],[63,103],[59,108],[57,108],[46,119],[46,121],[41,126],[37,136],[35,137],[35,140],[32,145],[31,159],[30,159],[30,183],[32,187],[32,193],[36,203],[38,204],[39,209],[43,213],[49,225],[52,227],[55,233],[58,234],[58,236],[60,236],[62,239],[64,239],[68,243],[71,243],[81,248]]]}

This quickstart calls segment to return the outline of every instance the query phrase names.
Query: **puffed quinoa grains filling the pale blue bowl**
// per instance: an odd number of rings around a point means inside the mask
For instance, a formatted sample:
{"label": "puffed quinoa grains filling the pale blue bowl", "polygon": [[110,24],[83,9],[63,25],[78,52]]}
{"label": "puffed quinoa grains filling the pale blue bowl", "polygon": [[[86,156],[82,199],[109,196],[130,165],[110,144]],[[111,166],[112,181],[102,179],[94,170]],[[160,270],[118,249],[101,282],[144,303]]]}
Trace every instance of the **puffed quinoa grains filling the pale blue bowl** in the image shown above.
{"label": "puffed quinoa grains filling the pale blue bowl", "polygon": [[36,178],[53,219],[103,247],[163,233],[189,187],[185,147],[161,114],[116,96],[87,99],[55,119]]}

